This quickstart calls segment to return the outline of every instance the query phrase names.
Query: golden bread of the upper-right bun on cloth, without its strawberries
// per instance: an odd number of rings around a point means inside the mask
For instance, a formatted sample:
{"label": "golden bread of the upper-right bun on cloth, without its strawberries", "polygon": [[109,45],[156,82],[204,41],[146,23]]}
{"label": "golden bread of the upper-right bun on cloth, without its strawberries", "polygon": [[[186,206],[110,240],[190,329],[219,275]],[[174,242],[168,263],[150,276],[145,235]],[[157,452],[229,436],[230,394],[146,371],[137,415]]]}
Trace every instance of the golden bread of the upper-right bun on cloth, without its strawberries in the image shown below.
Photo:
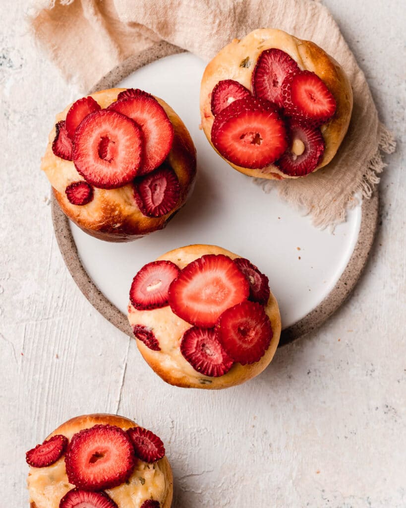
{"label": "golden bread of the upper-right bun on cloth, without its strawberries", "polygon": [[[317,152],[317,158],[316,155],[314,155],[313,161],[315,161],[315,167],[313,166],[311,171],[303,170],[303,168],[300,168],[297,171],[281,171],[278,167],[278,160],[275,163],[268,164],[260,169],[253,166],[242,167],[241,165],[227,160],[227,157],[223,156],[223,154],[221,154],[213,144],[212,126],[215,120],[211,102],[213,89],[217,83],[222,80],[234,80],[246,87],[247,93],[252,93],[256,97],[265,97],[265,95],[261,94],[261,92],[253,90],[253,73],[259,57],[263,54],[263,52],[269,50],[270,48],[276,48],[285,52],[285,54],[287,53],[288,59],[292,58],[297,63],[298,69],[296,69],[298,72],[310,71],[315,73],[322,82],[324,82],[324,85],[327,86],[329,92],[333,96],[333,100],[335,99],[336,109],[332,118],[321,125],[317,125],[321,131],[320,144],[322,145],[324,141],[324,153],[321,155]],[[264,67],[264,72],[266,72],[266,62],[264,62]],[[276,86],[282,86],[282,83],[278,82],[278,79],[282,81],[284,78],[285,76],[282,78],[277,76]],[[228,104],[231,102],[232,98],[230,97]],[[230,44],[225,46],[213,58],[213,60],[210,61],[201,80],[201,126],[207,139],[222,158],[230,164],[230,166],[241,173],[259,178],[296,178],[326,166],[334,157],[347,132],[351,118],[352,105],[353,96],[350,81],[344,73],[342,67],[334,60],[333,57],[328,55],[313,42],[302,41],[282,30],[273,28],[260,28],[252,31],[241,40],[234,39]],[[288,116],[290,116],[290,113],[287,113],[284,105],[278,105],[278,113],[281,116],[282,121],[286,122],[289,120]],[[252,133],[249,134],[252,135]],[[303,153],[303,145],[301,145],[301,147],[299,146],[299,148],[295,145],[293,148],[293,140],[292,136],[290,136],[289,129],[287,135],[287,151],[289,151],[289,153],[293,153],[293,158],[296,160],[296,155],[301,155]],[[258,143],[258,140],[255,141],[254,139],[253,142]],[[284,149],[282,148],[282,153],[283,150]],[[307,150],[307,148],[304,148],[304,150]],[[320,148],[320,152],[321,151],[322,148]]]}

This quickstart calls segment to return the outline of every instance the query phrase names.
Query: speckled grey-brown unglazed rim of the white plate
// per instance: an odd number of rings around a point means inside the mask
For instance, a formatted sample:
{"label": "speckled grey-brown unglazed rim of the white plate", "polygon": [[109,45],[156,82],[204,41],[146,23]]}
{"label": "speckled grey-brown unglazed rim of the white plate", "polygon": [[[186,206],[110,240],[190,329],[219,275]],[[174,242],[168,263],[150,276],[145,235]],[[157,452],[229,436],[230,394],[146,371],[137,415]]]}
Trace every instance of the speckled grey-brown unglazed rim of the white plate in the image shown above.
{"label": "speckled grey-brown unglazed rim of the white plate", "polygon": [[[97,90],[106,88],[113,88],[122,79],[137,69],[148,65],[148,63],[165,56],[182,52],[184,52],[183,49],[166,42],[154,44],[151,48],[137,55],[133,55],[122,62],[106,76],[101,78],[101,80],[89,90],[89,93],[94,93]],[[52,222],[55,230],[55,237],[67,269],[92,306],[106,317],[112,325],[126,335],[132,337],[132,330],[128,323],[127,316],[101,293],[84,269],[75,240],[72,236],[70,220],[59,208],[52,192],[51,196]],[[370,199],[364,199],[362,202],[361,225],[357,243],[343,274],[336,282],[334,288],[317,307],[293,325],[282,330],[279,342],[280,346],[292,342],[319,328],[348,298],[366,265],[370,249],[374,243],[378,223],[378,210],[379,195],[378,192],[375,192]]]}

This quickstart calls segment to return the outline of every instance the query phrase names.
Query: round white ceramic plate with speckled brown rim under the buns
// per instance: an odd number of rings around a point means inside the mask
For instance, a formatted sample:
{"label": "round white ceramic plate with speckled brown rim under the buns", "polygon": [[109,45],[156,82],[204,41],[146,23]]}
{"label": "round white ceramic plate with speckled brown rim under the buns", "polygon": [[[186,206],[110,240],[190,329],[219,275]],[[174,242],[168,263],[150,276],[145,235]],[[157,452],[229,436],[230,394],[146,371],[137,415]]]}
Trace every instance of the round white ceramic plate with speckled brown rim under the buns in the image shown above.
{"label": "round white ceramic plate with speckled brown rim under the buns", "polygon": [[108,243],[85,234],[53,200],[62,255],[93,306],[131,334],[124,314],[137,271],[183,245],[220,245],[248,258],[269,277],[281,310],[281,343],[286,343],[320,326],[354,287],[373,242],[378,198],[351,210],[347,222],[331,233],[316,229],[309,217],[279,199],[277,184],[265,194],[252,178],[228,166],[199,130],[205,63],[179,51],[168,44],[156,45],[106,76],[97,88],[142,88],[178,113],[197,149],[191,198],[163,231],[130,243]]}

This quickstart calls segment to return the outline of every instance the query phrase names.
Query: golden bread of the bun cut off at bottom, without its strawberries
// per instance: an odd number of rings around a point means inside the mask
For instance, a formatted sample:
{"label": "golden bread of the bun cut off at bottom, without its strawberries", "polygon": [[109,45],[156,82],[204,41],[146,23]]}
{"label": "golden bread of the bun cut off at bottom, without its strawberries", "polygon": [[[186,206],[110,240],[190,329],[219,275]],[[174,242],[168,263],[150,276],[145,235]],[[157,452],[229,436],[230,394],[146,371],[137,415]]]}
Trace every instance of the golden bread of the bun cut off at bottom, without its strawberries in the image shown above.
{"label": "golden bread of the bun cut off at bottom, without its strawberries", "polygon": [[[60,425],[47,437],[47,440],[53,436],[62,435],[70,443],[56,462],[45,467],[30,467],[27,482],[30,508],[59,508],[60,500],[75,488],[75,485],[69,483],[67,478],[64,459],[70,453],[69,447],[73,436],[78,435],[77,433],[83,429],[90,429],[96,425],[115,426],[124,431],[138,427],[137,424],[127,418],[107,414],[78,416]],[[107,443],[108,450],[111,442]],[[92,455],[89,463],[104,460],[103,454],[108,454],[106,450],[100,450],[99,452],[97,450],[97,447],[91,450]],[[28,463],[38,460],[38,457],[33,457],[31,452],[27,452]],[[164,454],[164,450],[162,453]],[[103,491],[120,508],[141,508],[147,499],[158,501],[160,508],[170,508],[173,495],[172,469],[166,456],[152,463],[136,458],[135,465],[127,481],[113,488],[83,490]]]}

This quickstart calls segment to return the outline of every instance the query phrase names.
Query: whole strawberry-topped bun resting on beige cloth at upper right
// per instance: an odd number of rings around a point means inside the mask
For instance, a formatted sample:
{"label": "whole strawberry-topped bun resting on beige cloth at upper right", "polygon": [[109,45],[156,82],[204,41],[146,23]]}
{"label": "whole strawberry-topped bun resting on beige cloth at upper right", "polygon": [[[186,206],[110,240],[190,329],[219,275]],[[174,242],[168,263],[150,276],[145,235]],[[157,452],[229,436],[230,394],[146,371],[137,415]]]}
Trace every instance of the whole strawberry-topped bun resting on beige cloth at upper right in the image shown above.
{"label": "whole strawberry-topped bun resting on beige cloth at upper right", "polygon": [[260,28],[234,39],[201,80],[201,126],[234,169],[298,178],[326,166],[350,123],[351,84],[316,44]]}

